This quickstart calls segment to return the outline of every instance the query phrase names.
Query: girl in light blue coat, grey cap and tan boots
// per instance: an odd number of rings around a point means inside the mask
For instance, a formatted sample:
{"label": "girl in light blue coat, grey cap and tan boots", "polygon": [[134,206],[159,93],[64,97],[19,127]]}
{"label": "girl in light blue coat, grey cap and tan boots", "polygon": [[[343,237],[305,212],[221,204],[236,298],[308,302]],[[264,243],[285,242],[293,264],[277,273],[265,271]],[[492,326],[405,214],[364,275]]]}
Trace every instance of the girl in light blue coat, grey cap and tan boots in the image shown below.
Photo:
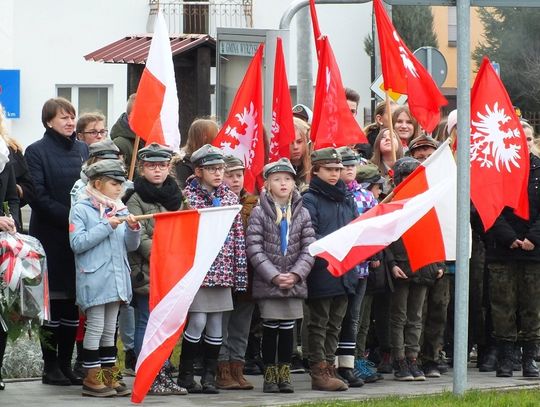
{"label": "girl in light blue coat, grey cap and tan boots", "polygon": [[[75,254],[77,305],[86,314],[83,396],[126,396],[118,381],[114,334],[120,303],[131,301],[127,252],[137,249],[140,225],[120,200],[125,172],[120,161],[86,168],[89,184],[70,211],[69,241]],[[119,216],[127,216],[127,224]]]}

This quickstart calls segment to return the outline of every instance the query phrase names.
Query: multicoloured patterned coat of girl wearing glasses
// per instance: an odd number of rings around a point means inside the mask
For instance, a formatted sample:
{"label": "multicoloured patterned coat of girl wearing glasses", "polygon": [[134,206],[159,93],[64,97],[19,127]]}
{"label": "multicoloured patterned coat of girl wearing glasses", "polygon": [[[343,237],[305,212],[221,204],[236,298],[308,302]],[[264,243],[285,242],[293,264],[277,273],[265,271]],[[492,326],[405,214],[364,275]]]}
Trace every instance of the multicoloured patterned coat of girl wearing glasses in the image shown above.
{"label": "multicoloured patterned coat of girl wearing glasses", "polygon": [[[214,200],[220,205],[238,205],[238,197],[225,184],[219,185],[213,193],[201,186],[196,177],[188,179],[184,197],[191,208],[211,208]],[[244,240],[244,228],[240,214],[234,219],[229,235],[216,260],[208,270],[202,287],[233,287],[235,291],[247,289],[247,259]]]}

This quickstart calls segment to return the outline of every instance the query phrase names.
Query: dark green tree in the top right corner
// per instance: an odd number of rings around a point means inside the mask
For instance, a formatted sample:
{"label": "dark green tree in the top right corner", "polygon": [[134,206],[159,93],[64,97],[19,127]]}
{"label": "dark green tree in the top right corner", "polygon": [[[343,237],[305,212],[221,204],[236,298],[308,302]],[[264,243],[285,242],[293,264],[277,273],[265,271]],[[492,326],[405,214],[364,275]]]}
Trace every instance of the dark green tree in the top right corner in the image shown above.
{"label": "dark green tree in the top right corner", "polygon": [[540,111],[540,30],[538,8],[481,8],[484,39],[473,52],[501,66],[501,79],[512,103],[523,111]]}

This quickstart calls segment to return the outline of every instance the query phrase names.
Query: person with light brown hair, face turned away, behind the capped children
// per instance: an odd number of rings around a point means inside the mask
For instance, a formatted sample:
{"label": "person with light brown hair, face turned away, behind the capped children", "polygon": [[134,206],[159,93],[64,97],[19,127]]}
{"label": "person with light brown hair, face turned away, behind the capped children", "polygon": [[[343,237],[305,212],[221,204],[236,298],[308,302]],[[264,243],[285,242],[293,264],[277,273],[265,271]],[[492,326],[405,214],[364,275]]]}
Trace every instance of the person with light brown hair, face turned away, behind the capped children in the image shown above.
{"label": "person with light brown hair, face turned away, behind the capped children", "polygon": [[218,124],[212,119],[195,119],[188,130],[186,145],[182,148],[180,157],[174,159],[172,165],[176,170],[176,182],[180,189],[186,187],[186,180],[193,175],[191,154],[205,144],[212,144],[219,132]]}

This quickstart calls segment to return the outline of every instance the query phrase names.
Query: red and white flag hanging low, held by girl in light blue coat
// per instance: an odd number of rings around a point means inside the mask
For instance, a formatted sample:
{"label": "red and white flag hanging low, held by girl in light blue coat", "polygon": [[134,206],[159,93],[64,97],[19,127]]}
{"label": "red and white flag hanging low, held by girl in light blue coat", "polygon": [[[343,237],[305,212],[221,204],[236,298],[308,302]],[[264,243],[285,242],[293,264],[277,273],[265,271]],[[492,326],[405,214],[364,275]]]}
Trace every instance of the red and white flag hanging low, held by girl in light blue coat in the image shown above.
{"label": "red and white flag hanging low, held by girl in light blue coat", "polygon": [[141,403],[184,330],[189,307],[241,206],[156,214],[150,255],[150,317],[131,401]]}

